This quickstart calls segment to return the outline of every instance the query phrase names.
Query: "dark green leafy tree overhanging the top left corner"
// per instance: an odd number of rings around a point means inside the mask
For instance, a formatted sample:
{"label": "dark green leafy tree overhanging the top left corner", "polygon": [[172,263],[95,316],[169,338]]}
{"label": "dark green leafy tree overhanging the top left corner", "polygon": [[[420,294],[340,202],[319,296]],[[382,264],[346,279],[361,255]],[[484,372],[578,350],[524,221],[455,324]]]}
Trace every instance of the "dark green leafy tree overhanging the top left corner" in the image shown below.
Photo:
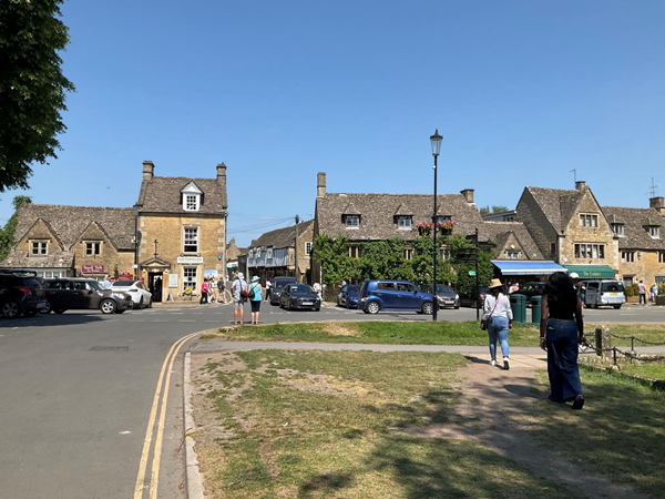
{"label": "dark green leafy tree overhanging the top left corner", "polygon": [[0,7],[0,192],[27,189],[32,162],[61,150],[65,91],[74,85],[60,69],[69,43],[57,19],[62,0],[3,0]]}

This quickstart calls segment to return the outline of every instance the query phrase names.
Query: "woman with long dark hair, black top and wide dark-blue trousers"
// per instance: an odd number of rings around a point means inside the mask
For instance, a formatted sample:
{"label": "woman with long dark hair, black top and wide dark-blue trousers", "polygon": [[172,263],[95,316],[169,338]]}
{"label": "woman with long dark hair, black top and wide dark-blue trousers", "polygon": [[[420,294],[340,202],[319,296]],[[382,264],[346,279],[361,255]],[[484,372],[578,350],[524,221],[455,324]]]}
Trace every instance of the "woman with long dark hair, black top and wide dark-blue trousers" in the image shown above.
{"label": "woman with long dark hair, black top and wide dark-blue trousers", "polygon": [[584,342],[582,301],[565,272],[555,272],[543,291],[540,346],[548,353],[550,400],[584,406],[577,352]]}

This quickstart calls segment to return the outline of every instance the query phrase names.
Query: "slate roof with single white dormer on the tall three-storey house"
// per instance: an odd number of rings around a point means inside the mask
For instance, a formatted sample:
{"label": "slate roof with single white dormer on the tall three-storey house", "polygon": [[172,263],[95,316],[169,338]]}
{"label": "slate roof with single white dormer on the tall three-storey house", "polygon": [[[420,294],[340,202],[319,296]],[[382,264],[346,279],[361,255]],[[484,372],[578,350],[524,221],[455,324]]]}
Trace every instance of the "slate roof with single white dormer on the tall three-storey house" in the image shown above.
{"label": "slate roof with single white dormer on the tall three-storey house", "polygon": [[153,176],[151,181],[143,180],[136,205],[150,212],[190,213],[183,210],[181,201],[181,191],[190,182],[194,182],[203,191],[203,203],[195,213],[221,214],[228,207],[225,181],[184,176]]}

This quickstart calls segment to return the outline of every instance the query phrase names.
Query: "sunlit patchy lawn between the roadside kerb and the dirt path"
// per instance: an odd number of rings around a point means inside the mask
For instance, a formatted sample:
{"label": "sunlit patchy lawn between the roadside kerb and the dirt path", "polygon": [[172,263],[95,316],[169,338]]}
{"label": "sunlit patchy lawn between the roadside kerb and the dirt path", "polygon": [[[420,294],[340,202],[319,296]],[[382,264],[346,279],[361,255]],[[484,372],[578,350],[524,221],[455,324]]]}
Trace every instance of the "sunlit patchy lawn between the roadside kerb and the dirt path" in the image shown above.
{"label": "sunlit patchy lawn between the roadside kerb and the dirt path", "polygon": [[193,381],[206,489],[234,499],[573,497],[468,440],[396,430],[446,422],[466,363],[428,353],[202,354]]}

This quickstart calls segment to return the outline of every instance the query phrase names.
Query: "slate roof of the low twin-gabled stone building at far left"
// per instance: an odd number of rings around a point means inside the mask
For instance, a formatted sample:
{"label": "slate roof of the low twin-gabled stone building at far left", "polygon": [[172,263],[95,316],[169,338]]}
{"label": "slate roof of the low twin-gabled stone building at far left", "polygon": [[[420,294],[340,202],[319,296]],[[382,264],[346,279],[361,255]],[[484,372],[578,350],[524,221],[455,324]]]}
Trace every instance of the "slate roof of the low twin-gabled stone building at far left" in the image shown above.
{"label": "slate roof of the low twin-gabled stone building at far left", "polygon": [[96,222],[119,249],[134,249],[134,213],[132,208],[63,206],[24,203],[18,212],[14,241],[19,242],[38,220],[42,220],[59,242],[69,249],[92,222]]}

